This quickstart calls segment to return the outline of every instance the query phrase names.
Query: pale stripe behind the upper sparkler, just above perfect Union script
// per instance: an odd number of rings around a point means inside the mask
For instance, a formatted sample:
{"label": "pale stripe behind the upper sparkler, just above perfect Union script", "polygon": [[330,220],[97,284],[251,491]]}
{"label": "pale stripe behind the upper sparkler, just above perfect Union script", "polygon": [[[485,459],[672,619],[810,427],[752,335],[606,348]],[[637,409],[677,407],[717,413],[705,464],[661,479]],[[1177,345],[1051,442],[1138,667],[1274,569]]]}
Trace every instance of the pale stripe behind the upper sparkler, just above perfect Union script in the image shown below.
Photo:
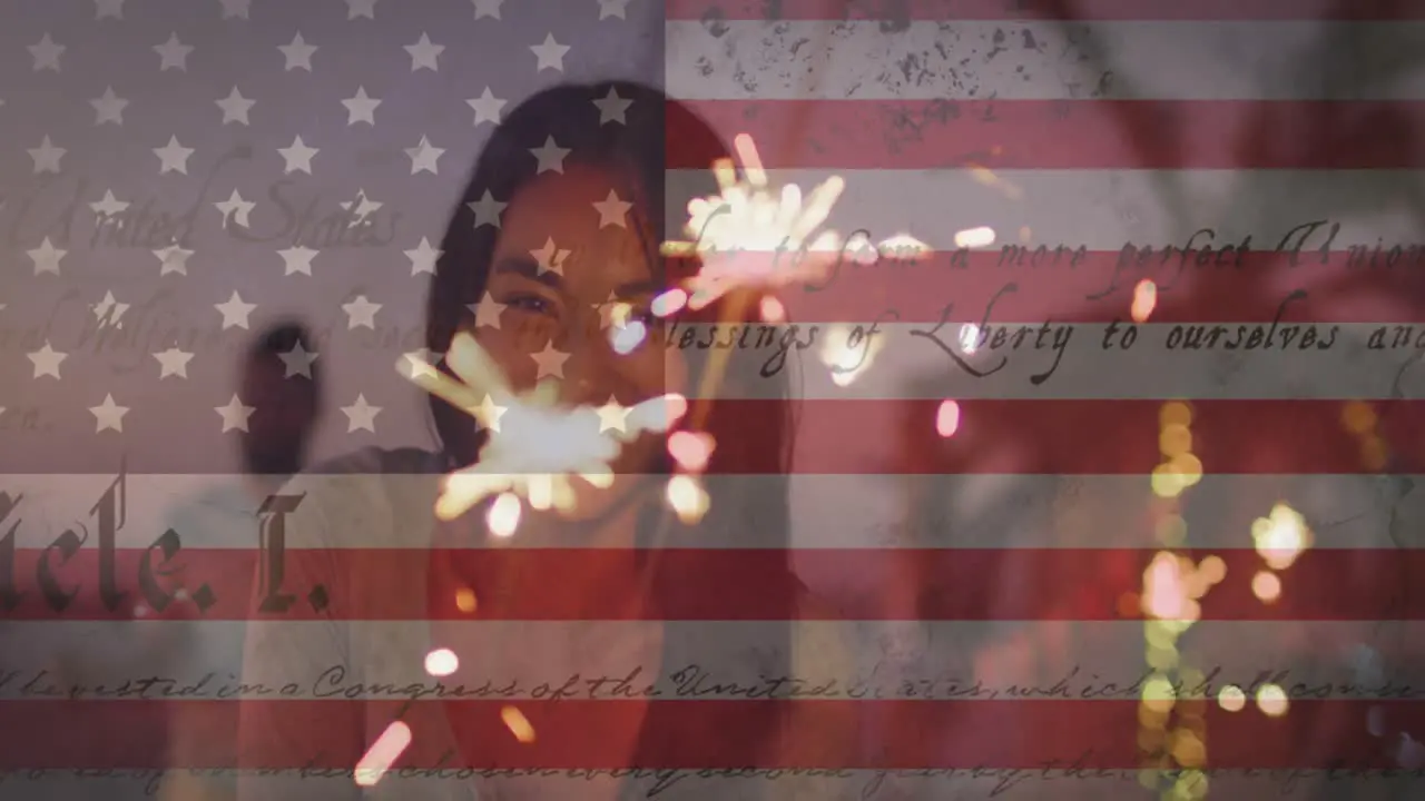
{"label": "pale stripe behind the upper sparkler, just above perfect Union script", "polygon": [[[1003,170],[995,172],[1000,182],[993,185],[968,170],[768,170],[768,181],[809,191],[834,174],[845,178],[846,190],[828,228],[842,235],[866,229],[874,241],[911,234],[935,249],[955,249],[958,231],[986,225],[999,235],[996,252],[1000,245],[1025,244],[1023,227],[1032,232],[1029,245],[1050,249],[1063,244],[1119,252],[1124,242],[1181,248],[1194,231],[1211,228],[1214,247],[1238,245],[1251,235],[1251,249],[1274,251],[1292,228],[1317,219],[1342,224],[1335,249],[1375,248],[1378,238],[1387,249],[1425,244],[1416,218],[1381,201],[1419,190],[1425,171],[1418,170]],[[671,197],[707,191],[703,171],[673,170],[668,182]],[[1173,208],[1167,188],[1183,192],[1181,211]],[[1234,210],[1233,201],[1243,195],[1251,202]],[[1349,210],[1365,198],[1375,211],[1358,219]],[[681,231],[687,210],[670,204],[665,221],[668,231]],[[1320,248],[1328,229],[1318,229],[1305,249]],[[1207,241],[1203,235],[1197,245]]]}

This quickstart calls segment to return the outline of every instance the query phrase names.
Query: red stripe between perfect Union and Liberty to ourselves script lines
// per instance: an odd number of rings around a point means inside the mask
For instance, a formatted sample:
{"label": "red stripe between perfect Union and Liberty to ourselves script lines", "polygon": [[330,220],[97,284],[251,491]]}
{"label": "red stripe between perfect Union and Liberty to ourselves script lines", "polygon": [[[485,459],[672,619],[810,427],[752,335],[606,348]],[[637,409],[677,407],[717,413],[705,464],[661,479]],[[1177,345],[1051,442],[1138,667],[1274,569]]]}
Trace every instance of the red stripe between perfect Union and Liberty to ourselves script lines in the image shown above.
{"label": "red stripe between perfect Union and Liberty to ourselves script lines", "polygon": [[[875,231],[872,237],[891,234]],[[1120,251],[1079,251],[1072,242],[1009,245],[963,254],[938,251],[915,261],[888,258],[872,267],[848,255],[834,262],[825,278],[784,289],[779,296],[789,319],[804,324],[878,318],[935,324],[950,304],[950,322],[1112,322],[1130,318],[1134,289],[1147,279],[1157,292],[1149,322],[1271,322],[1278,312],[1291,322],[1425,322],[1425,305],[1409,301],[1425,294],[1425,242],[1414,249],[1399,244],[1394,254],[1395,242],[1381,244],[1379,254],[1377,242],[1352,242],[1362,249],[1325,258],[1307,248],[1292,265],[1295,238],[1281,248],[1282,234],[1248,244],[1261,251],[1243,252],[1241,239],[1216,237],[1214,242],[1208,232],[1191,242],[1131,242]],[[1320,248],[1327,234],[1322,227],[1311,244]],[[771,262],[778,257],[747,258]],[[784,255],[777,264],[792,258]],[[1387,268],[1388,261],[1394,267]],[[1305,295],[1285,302],[1295,289]]]}

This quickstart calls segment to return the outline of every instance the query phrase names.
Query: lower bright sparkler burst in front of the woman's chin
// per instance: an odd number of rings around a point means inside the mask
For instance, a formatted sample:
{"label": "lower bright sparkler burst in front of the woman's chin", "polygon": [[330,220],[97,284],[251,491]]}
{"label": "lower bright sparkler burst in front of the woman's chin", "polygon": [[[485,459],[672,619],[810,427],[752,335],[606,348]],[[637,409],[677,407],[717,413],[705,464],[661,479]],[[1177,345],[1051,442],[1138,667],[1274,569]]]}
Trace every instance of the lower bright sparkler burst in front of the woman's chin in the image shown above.
{"label": "lower bright sparkler burst in front of the woman's chin", "polygon": [[[523,495],[539,510],[553,506],[569,512],[576,502],[571,476],[594,487],[611,486],[610,463],[623,445],[643,432],[668,430],[687,410],[681,396],[644,400],[630,412],[631,425],[626,430],[610,433],[600,430],[600,413],[591,406],[554,408],[559,389],[553,382],[516,396],[499,365],[467,332],[456,335],[446,362],[463,385],[443,373],[422,373],[412,381],[486,423],[490,436],[475,465],[446,476],[436,500],[436,516],[442,520],[459,517],[503,492]],[[492,412],[496,402],[502,403],[497,413]],[[678,415],[668,413],[675,409]],[[494,530],[503,527],[492,524]]]}

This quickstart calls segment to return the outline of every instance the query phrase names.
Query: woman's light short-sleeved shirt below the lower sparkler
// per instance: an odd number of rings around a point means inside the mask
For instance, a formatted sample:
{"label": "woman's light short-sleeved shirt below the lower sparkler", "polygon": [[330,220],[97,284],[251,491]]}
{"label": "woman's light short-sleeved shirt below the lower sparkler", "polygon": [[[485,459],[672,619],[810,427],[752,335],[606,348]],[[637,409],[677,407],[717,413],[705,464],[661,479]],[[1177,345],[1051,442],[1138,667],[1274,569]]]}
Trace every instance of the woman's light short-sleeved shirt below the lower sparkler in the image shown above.
{"label": "woman's light short-sleeved shirt below the lower sparkler", "polygon": [[[311,587],[321,586],[326,596],[322,600],[329,607],[321,614],[305,614],[309,620],[251,623],[242,681],[249,687],[295,686],[294,698],[321,698],[321,706],[315,711],[294,711],[291,704],[281,701],[244,704],[239,741],[245,764],[258,767],[258,754],[305,763],[321,750],[328,763],[351,765],[396,715],[408,723],[412,743],[395,763],[398,768],[365,788],[365,795],[349,772],[323,778],[318,771],[308,771],[305,777],[289,771],[245,775],[239,798],[597,801],[644,798],[650,791],[673,801],[798,797],[798,780],[788,777],[777,781],[718,777],[670,781],[670,771],[637,777],[563,770],[536,771],[536,775],[457,772],[466,760],[509,764],[509,757],[519,758],[516,730],[520,723],[506,718],[506,707],[519,710],[532,698],[549,697],[550,690],[566,686],[579,687],[589,698],[589,681],[597,678],[608,681],[600,684],[601,696],[593,697],[628,707],[617,715],[620,725],[580,731],[574,743],[594,744],[606,754],[627,754],[626,764],[640,764],[641,755],[663,745],[644,737],[650,704],[638,697],[643,688],[657,684],[671,697],[677,681],[673,674],[691,664],[704,668],[712,664],[724,676],[744,680],[771,674],[778,664],[788,663],[788,651],[795,653],[797,646],[789,639],[781,646],[768,647],[768,643],[781,636],[777,631],[798,629],[703,621],[664,624],[656,610],[640,607],[648,603],[648,594],[634,591],[618,599],[598,599],[603,609],[627,604],[628,609],[617,616],[621,620],[499,620],[499,609],[489,606],[500,603],[497,587],[465,587],[459,576],[442,570],[442,560],[430,557],[432,546],[463,547],[452,542],[452,536],[484,536],[452,534],[450,529],[437,527],[433,506],[443,472],[442,462],[432,453],[368,449],[296,476],[282,490],[286,496],[302,496],[284,520],[284,587],[295,597],[295,604],[311,609]],[[513,540],[503,542],[520,547],[551,544],[537,534],[524,534],[522,530]],[[490,547],[479,542],[467,544]],[[372,549],[390,550],[379,554]],[[524,579],[519,586],[532,583]],[[462,600],[467,589],[473,590],[469,593],[473,599]],[[443,603],[469,607],[469,619],[440,610]],[[482,610],[487,617],[482,619]],[[432,623],[432,619],[437,620]],[[836,673],[838,660],[844,660],[838,643],[828,641],[825,631],[811,641],[807,658],[814,671],[818,676]],[[437,678],[426,673],[425,661],[440,648],[455,653],[459,666],[453,674]],[[576,676],[579,681],[570,684]],[[620,684],[618,680],[627,681]],[[450,701],[456,700],[455,688],[463,688],[463,698],[487,706],[450,714],[455,707],[440,703],[442,696],[435,690],[437,683]],[[425,697],[402,708],[400,690],[412,687],[425,691]],[[368,703],[361,703],[363,700]],[[539,741],[536,711],[526,723],[536,725]],[[690,740],[695,748],[695,743],[720,734],[707,731]],[[546,741],[567,737],[567,731],[544,731]],[[332,754],[345,761],[333,760]],[[418,770],[403,774],[400,767],[412,764]]]}

